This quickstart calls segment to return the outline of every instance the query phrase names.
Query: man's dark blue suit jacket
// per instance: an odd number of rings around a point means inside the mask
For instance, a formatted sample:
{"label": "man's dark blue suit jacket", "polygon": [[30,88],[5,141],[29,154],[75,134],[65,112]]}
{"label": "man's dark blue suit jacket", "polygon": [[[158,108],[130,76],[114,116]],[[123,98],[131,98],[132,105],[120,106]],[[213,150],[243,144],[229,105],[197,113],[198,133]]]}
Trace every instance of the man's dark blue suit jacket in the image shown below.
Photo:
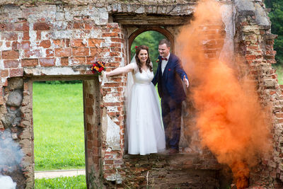
{"label": "man's dark blue suit jacket", "polygon": [[[166,91],[168,91],[170,97],[176,101],[176,102],[182,102],[185,100],[185,91],[183,89],[183,77],[185,76],[187,79],[187,74],[185,73],[181,63],[180,59],[176,56],[170,53],[170,57],[168,59],[168,62],[166,64],[166,67],[163,71],[161,71],[161,56],[158,56],[159,62],[158,62],[158,68],[156,71],[156,74],[154,76],[154,79],[151,81],[154,86],[156,83],[158,83],[158,93],[163,97],[161,94],[163,94],[163,88],[166,88]],[[161,88],[161,79],[163,79],[163,88]]]}

